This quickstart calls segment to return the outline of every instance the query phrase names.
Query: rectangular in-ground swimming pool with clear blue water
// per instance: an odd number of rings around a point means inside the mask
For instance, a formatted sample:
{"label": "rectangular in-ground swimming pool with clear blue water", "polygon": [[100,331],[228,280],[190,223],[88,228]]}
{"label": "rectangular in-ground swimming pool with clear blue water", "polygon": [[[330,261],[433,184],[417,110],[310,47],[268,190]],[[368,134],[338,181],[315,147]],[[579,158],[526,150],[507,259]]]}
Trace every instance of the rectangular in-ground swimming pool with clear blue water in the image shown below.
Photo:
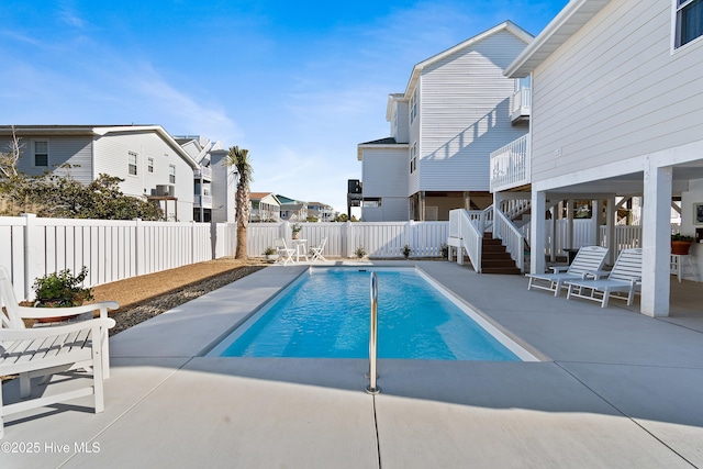
{"label": "rectangular in-ground swimming pool with clear blue water", "polygon": [[[378,356],[536,360],[464,303],[411,268],[375,268]],[[370,269],[311,268],[208,356],[367,358]]]}

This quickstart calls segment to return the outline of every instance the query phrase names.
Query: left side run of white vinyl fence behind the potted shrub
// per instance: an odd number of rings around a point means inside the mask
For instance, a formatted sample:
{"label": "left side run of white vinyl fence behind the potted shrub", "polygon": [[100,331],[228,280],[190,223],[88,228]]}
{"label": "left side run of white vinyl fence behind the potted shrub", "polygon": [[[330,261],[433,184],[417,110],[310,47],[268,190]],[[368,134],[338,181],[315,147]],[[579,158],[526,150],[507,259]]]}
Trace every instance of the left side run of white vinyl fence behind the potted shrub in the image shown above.
{"label": "left side run of white vinyl fence behind the potted shrub", "polygon": [[111,220],[0,216],[0,265],[18,298],[34,279],[88,267],[86,287],[234,255],[235,226]]}

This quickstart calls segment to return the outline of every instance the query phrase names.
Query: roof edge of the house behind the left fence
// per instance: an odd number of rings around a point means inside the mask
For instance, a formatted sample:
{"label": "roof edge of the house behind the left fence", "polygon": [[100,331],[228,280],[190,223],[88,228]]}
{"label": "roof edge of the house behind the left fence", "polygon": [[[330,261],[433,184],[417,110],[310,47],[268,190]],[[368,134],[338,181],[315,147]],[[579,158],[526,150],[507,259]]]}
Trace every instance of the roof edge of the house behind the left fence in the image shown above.
{"label": "roof edge of the house behind the left fence", "polygon": [[[0,125],[0,135],[11,135],[12,125]],[[22,135],[93,135],[101,137],[112,133],[155,132],[158,134],[191,168],[198,168],[196,160],[176,142],[160,125],[14,125],[18,136]]]}

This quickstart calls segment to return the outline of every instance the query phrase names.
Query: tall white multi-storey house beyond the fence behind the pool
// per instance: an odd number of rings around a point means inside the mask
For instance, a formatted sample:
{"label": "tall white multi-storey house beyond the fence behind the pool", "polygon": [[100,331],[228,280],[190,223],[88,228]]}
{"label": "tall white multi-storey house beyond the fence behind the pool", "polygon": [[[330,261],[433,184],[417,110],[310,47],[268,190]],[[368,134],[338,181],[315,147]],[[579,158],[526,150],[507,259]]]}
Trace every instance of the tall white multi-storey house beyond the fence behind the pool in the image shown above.
{"label": "tall white multi-storey house beyond the fence behind the pool", "polygon": [[358,145],[364,221],[448,220],[491,203],[491,152],[528,131],[513,98],[524,81],[503,70],[532,40],[507,21],[414,66],[388,98],[391,135]]}

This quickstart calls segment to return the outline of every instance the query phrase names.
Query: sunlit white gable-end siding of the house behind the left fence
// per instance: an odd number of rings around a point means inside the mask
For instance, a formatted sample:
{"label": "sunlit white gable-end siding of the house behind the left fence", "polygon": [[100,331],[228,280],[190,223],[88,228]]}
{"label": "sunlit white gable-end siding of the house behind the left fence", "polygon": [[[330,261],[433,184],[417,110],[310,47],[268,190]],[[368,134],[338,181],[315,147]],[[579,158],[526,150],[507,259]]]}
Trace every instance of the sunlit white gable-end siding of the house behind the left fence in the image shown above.
{"label": "sunlit white gable-end siding of the house behind the left fence", "polygon": [[[155,132],[110,133],[96,137],[96,174],[107,172],[124,179],[121,190],[127,196],[152,196],[156,186],[170,185],[169,165],[176,166],[175,197],[178,198],[178,221],[193,216],[193,169]],[[138,155],[137,175],[127,171],[127,154]],[[147,158],[154,158],[154,172],[147,172]],[[169,214],[172,213],[169,204]]]}

